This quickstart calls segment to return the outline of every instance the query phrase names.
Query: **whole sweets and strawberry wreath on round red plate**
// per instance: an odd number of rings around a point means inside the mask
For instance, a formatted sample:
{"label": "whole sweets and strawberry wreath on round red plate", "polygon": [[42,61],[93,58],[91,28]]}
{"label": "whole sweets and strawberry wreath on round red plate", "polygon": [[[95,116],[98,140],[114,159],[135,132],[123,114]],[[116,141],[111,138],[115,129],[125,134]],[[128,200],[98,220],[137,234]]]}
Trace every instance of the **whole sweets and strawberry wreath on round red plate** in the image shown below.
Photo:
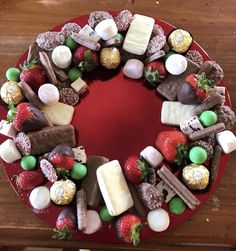
{"label": "whole sweets and strawberry wreath on round red plate", "polygon": [[161,235],[209,198],[236,149],[220,65],[190,32],[129,10],[39,34],[6,79],[0,156],[53,238]]}

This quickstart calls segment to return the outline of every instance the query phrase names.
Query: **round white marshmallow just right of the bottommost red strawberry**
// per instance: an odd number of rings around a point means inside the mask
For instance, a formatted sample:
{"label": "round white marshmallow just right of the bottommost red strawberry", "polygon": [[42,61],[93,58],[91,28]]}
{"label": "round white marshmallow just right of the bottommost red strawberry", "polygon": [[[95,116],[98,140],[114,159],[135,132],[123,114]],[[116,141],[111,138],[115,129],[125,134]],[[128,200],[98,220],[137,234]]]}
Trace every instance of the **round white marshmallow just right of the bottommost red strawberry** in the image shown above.
{"label": "round white marshmallow just right of the bottommost red strawberry", "polygon": [[155,232],[165,231],[169,224],[169,214],[162,208],[150,211],[147,216],[148,226]]}

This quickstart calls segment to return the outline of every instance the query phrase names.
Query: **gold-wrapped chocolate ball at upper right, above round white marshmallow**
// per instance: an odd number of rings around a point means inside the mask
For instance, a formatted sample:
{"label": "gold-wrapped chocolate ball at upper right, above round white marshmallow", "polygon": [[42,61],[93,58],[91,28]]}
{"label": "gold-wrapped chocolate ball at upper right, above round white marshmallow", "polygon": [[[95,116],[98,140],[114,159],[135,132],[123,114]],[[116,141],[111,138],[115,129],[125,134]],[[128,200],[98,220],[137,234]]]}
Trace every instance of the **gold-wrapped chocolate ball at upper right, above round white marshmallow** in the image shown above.
{"label": "gold-wrapped chocolate ball at upper right, above round white marshmallow", "polygon": [[189,32],[177,29],[171,32],[168,38],[168,43],[173,51],[178,53],[186,52],[193,41]]}

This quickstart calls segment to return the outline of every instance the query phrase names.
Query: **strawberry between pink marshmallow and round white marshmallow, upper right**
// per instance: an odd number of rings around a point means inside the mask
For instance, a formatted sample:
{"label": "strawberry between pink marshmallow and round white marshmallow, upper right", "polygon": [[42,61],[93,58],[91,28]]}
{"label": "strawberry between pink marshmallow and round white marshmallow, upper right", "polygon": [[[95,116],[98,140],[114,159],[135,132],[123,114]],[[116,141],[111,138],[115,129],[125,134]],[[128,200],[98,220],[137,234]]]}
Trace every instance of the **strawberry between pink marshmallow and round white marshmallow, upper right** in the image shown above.
{"label": "strawberry between pink marshmallow and round white marshmallow, upper right", "polygon": [[144,77],[150,87],[156,87],[167,76],[165,65],[161,61],[148,63],[144,68]]}

